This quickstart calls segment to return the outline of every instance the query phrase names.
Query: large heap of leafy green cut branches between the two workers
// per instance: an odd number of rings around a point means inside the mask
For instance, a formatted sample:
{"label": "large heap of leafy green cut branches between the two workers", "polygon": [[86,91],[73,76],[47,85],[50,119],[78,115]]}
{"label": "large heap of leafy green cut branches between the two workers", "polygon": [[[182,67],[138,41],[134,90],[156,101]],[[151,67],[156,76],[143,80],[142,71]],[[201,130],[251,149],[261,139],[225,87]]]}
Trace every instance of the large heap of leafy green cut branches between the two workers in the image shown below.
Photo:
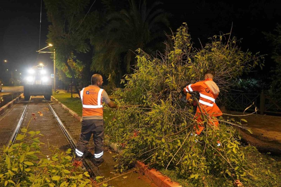
{"label": "large heap of leafy green cut branches between the two workers", "polygon": [[239,143],[232,125],[240,123],[220,118],[220,128],[214,129],[205,122],[205,131],[196,142],[190,135],[195,110],[177,95],[186,84],[202,80],[207,69],[216,72],[214,82],[227,90],[242,73],[262,67],[264,57],[243,52],[230,34],[214,36],[204,48],[195,49],[185,23],[169,39],[165,53],[157,57],[138,49],[134,73],[121,81],[125,89],[114,93],[118,105],[126,106],[118,109],[107,126],[110,141],[123,150],[116,166],[122,172],[141,160],[158,169],[174,169],[198,184],[209,173],[246,180],[252,173],[247,153],[254,148]]}

